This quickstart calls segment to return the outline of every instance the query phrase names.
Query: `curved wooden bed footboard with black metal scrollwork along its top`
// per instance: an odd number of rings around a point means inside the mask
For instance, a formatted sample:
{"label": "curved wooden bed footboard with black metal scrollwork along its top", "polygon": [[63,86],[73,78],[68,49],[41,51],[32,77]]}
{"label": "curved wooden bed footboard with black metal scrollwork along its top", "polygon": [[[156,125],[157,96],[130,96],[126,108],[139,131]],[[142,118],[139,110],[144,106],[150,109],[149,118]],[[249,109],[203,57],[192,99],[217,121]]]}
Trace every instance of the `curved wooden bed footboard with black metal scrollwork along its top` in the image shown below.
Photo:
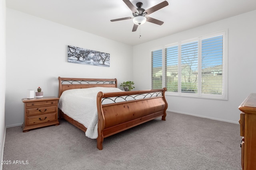
{"label": "curved wooden bed footboard with black metal scrollwork along its top", "polygon": [[[166,119],[168,104],[165,99],[166,88],[158,90],[140,90],[130,92],[103,93],[97,95],[98,109],[98,138],[97,148],[102,150],[105,137],[114,135],[136,125],[162,116]],[[145,95],[146,94],[146,95]],[[127,100],[127,96],[156,94],[154,97]],[[123,102],[116,102],[112,98],[122,98]],[[133,98],[133,97],[132,97]],[[113,101],[111,104],[102,104],[104,99]]]}

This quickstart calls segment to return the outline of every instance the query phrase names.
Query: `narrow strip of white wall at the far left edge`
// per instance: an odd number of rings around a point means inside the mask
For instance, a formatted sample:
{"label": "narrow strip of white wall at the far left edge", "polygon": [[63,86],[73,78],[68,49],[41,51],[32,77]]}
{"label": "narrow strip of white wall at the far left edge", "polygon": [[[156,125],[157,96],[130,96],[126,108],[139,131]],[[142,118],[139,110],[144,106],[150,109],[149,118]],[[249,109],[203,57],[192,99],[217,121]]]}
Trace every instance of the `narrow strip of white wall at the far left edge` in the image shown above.
{"label": "narrow strip of white wall at the far left edge", "polygon": [[[5,21],[6,21],[6,4],[5,0],[0,0],[0,160],[3,160],[4,153],[4,135],[5,135],[5,82],[6,82],[6,50],[5,50]],[[0,170],[2,164],[0,164]]]}

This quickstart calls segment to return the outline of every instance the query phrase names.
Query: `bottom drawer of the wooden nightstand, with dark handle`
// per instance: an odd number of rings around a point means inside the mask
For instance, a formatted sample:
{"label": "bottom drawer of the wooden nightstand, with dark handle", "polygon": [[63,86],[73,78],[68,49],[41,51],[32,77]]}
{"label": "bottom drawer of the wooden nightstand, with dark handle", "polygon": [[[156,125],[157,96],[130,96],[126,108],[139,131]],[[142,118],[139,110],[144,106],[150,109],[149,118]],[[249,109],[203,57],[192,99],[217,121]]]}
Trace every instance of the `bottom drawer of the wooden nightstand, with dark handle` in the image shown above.
{"label": "bottom drawer of the wooden nightstand, with dark handle", "polygon": [[57,113],[49,113],[49,114],[27,117],[28,125],[36,125],[36,124],[40,124],[40,123],[57,121],[56,114]]}

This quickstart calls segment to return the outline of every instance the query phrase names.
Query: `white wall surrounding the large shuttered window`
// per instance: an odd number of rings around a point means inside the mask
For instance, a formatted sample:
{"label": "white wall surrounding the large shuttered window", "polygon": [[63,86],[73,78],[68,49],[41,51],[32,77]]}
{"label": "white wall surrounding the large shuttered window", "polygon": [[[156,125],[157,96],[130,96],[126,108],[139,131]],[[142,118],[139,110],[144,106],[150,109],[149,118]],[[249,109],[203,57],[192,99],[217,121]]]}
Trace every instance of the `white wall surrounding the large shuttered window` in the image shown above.
{"label": "white wall surrounding the large shuttered window", "polygon": [[250,93],[256,92],[255,18],[256,10],[134,46],[136,89],[151,88],[151,48],[228,29],[228,101],[177,96],[166,96],[166,99],[169,111],[238,123],[238,106]]}

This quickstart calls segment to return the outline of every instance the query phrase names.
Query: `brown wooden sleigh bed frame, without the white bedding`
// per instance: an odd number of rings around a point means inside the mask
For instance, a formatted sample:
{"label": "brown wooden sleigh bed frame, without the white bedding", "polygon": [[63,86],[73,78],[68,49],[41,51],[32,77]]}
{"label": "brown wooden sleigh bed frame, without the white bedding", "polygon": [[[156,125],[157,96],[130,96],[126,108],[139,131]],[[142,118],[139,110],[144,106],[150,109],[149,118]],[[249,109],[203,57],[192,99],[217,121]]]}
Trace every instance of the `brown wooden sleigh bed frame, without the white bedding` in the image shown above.
{"label": "brown wooden sleigh bed frame, without the white bedding", "polygon": [[[58,97],[66,90],[94,88],[94,87],[111,87],[117,88],[116,79],[94,79],[94,78],[61,78],[59,81]],[[98,138],[97,148],[102,150],[104,138],[124,131],[136,125],[150,121],[162,116],[162,120],[166,120],[166,109],[168,104],[165,99],[166,88],[158,90],[139,90],[130,92],[98,92],[96,97],[98,111]],[[135,100],[127,100],[123,102],[115,102],[113,98],[125,99],[127,96],[146,96],[147,94],[156,94],[149,98],[140,98]],[[111,104],[103,104],[104,99],[114,101]],[[87,128],[63,113],[59,109],[59,119],[65,119],[82,131],[86,132]]]}

